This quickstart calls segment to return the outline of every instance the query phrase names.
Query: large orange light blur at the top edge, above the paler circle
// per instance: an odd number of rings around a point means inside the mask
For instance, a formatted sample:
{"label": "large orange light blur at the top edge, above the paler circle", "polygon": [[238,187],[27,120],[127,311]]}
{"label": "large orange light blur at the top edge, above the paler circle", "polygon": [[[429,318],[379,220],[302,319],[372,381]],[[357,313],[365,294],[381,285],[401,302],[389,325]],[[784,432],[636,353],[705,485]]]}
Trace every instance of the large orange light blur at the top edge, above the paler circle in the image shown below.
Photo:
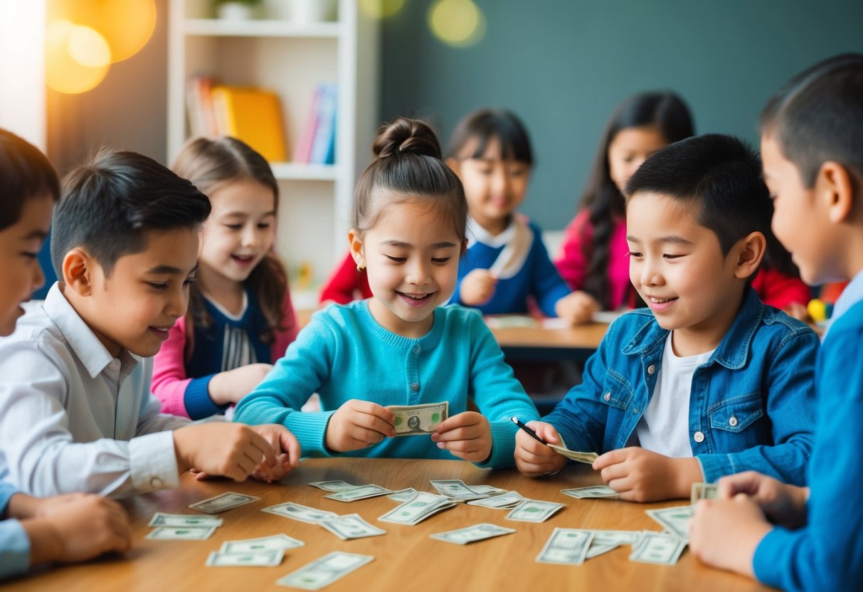
{"label": "large orange light blur at the top edge, above the paler circle", "polygon": [[49,0],[48,22],[66,19],[97,30],[108,41],[111,61],[136,54],[156,26],[155,0]]}

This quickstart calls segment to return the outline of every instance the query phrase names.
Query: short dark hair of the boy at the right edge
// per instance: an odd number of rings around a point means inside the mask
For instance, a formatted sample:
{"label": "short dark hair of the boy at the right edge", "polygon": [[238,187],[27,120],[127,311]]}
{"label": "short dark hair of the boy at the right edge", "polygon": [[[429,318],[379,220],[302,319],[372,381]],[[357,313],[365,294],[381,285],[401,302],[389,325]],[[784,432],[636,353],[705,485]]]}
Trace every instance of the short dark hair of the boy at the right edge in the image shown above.
{"label": "short dark hair of the boy at the right edge", "polygon": [[863,55],[836,55],[797,74],[767,102],[759,127],[806,187],[827,161],[863,175]]}

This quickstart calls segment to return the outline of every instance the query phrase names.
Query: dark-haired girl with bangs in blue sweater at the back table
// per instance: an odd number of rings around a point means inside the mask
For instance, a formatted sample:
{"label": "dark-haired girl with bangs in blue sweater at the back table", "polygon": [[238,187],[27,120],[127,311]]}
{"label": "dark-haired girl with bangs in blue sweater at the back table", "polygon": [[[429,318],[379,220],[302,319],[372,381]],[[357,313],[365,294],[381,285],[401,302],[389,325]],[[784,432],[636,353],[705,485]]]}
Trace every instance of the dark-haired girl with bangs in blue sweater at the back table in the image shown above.
{"label": "dark-haired girl with bangs in blue sweater at the back table", "polygon": [[453,303],[498,314],[527,312],[532,298],[545,316],[571,320],[570,290],[551,264],[541,230],[516,214],[533,166],[518,117],[506,110],[469,114],[453,131],[448,154],[470,213]]}

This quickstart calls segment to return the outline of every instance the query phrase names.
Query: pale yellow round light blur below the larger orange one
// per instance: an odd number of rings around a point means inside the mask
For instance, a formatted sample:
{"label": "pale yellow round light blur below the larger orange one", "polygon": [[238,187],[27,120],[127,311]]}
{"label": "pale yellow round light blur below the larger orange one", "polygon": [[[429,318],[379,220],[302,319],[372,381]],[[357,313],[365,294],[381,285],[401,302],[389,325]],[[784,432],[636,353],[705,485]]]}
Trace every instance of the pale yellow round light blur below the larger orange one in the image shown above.
{"label": "pale yellow round light blur below the larger orange one", "polygon": [[46,82],[55,91],[89,91],[108,73],[108,43],[89,27],[62,19],[51,22],[45,45]]}

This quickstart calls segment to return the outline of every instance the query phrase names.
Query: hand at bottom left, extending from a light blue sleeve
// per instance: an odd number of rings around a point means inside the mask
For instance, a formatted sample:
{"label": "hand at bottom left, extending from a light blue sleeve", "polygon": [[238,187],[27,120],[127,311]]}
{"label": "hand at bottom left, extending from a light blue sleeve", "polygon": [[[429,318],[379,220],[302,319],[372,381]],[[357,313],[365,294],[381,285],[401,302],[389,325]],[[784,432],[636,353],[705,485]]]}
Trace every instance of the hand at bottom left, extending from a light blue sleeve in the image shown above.
{"label": "hand at bottom left, extending from a light blue sleeve", "polygon": [[31,564],[84,561],[108,551],[126,551],[132,542],[123,507],[95,494],[66,497],[44,517],[21,524],[30,539]]}

